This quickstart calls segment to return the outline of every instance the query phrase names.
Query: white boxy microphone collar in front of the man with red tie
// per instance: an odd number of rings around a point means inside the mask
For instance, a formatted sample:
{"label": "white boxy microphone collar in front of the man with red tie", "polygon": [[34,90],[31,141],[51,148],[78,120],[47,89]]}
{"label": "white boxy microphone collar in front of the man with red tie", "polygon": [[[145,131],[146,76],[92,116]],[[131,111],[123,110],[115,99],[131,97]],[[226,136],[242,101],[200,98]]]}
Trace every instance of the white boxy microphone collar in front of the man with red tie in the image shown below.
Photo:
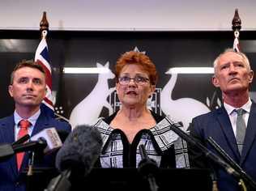
{"label": "white boxy microphone collar in front of the man with red tie", "polygon": [[62,146],[62,140],[58,136],[57,130],[52,127],[48,129],[43,129],[38,134],[35,134],[30,138],[31,141],[36,141],[38,138],[44,138],[47,142],[47,146],[44,150],[45,154],[49,154],[53,151],[56,151],[58,148]]}

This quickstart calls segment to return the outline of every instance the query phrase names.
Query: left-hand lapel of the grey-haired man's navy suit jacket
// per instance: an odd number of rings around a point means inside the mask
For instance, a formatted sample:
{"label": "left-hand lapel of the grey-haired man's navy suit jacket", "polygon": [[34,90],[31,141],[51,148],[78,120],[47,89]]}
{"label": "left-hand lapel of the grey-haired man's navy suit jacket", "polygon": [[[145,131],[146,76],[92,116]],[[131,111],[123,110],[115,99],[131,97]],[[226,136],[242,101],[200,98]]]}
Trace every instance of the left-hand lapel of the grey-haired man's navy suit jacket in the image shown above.
{"label": "left-hand lapel of the grey-haired man's navy suit jacket", "polygon": [[237,141],[233,132],[231,122],[228,117],[228,113],[225,108],[222,107],[217,111],[217,118],[220,122],[220,127],[224,132],[225,138],[227,139],[228,145],[233,150],[234,155],[237,157],[237,161],[240,160],[240,154],[237,148]]}

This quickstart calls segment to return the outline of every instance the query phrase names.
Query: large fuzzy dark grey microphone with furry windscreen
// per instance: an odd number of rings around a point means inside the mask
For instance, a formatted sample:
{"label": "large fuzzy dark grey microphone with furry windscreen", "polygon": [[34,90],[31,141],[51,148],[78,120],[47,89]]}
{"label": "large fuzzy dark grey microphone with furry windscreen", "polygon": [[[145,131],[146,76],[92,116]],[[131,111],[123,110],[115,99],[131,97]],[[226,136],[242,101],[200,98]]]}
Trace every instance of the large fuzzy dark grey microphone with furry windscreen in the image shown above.
{"label": "large fuzzy dark grey microphone with furry windscreen", "polygon": [[86,176],[98,159],[103,142],[96,127],[76,126],[68,135],[56,156],[56,167],[61,174],[53,178],[45,191],[70,190],[70,176]]}

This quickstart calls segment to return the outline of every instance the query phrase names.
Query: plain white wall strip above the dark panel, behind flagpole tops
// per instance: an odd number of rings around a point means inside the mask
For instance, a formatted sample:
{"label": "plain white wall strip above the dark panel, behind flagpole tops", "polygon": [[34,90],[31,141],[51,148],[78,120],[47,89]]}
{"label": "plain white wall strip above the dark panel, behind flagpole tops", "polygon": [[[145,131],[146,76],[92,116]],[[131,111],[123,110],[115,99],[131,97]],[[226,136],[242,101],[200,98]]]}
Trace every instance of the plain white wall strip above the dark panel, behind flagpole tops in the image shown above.
{"label": "plain white wall strip above the dark panel, behind flagpole tops", "polygon": [[38,30],[46,11],[50,30],[231,30],[236,8],[243,30],[256,29],[255,0],[1,0],[0,29]]}

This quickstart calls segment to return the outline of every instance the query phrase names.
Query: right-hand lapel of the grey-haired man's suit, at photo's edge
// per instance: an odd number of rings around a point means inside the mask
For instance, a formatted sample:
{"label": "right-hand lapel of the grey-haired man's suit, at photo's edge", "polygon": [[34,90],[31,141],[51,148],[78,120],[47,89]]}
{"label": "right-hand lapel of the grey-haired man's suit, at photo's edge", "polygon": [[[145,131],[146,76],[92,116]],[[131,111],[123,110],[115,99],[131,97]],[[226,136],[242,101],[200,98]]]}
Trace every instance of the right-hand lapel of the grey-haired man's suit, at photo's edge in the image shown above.
{"label": "right-hand lapel of the grey-haired man's suit, at photo's edge", "polygon": [[245,133],[245,141],[243,150],[241,151],[241,161],[240,164],[245,161],[246,155],[248,155],[251,146],[256,137],[256,104],[252,104],[250,108],[250,116],[248,119],[248,124]]}

